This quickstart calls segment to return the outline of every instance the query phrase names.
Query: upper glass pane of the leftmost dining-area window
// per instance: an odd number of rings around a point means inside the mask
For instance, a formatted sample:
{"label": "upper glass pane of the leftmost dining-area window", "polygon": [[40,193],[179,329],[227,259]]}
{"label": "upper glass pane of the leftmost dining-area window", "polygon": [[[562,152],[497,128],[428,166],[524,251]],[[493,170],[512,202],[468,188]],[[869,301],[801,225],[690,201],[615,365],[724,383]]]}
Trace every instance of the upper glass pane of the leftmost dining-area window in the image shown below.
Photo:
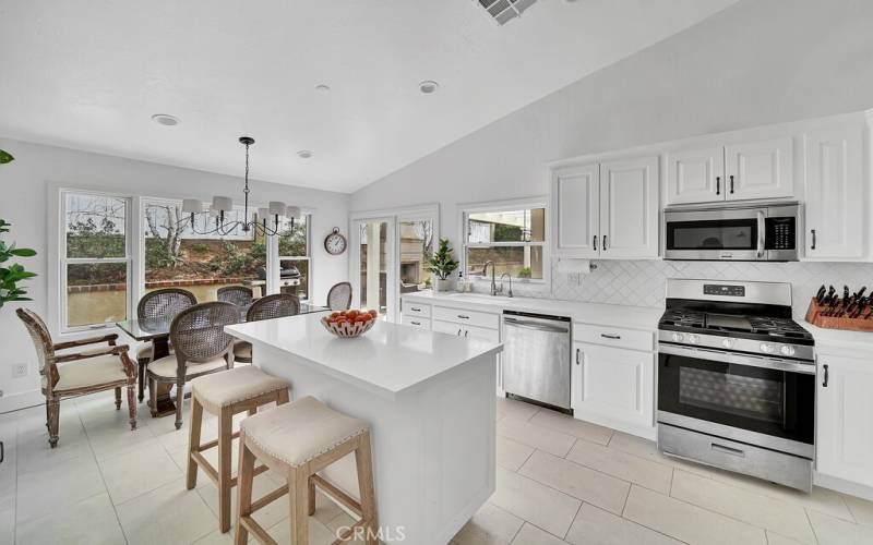
{"label": "upper glass pane of the leftmost dining-area window", "polygon": [[64,229],[67,257],[125,257],[127,201],[105,195],[68,193]]}

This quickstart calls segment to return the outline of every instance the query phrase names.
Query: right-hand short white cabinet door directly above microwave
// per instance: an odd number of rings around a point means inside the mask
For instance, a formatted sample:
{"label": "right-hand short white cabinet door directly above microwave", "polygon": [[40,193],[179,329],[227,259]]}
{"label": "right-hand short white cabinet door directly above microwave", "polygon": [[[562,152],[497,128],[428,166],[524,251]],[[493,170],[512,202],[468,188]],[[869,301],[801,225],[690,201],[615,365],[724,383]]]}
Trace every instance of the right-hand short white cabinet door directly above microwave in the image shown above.
{"label": "right-hand short white cabinet door directly above microwave", "polygon": [[725,148],[728,201],[794,194],[791,137],[733,144]]}

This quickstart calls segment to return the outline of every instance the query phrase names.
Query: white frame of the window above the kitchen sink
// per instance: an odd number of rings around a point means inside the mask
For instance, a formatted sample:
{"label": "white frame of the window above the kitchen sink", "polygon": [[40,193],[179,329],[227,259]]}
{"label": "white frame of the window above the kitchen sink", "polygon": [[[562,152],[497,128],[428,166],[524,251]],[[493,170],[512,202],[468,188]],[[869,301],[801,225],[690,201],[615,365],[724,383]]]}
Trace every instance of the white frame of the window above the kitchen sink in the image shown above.
{"label": "white frame of the window above the kitchen sink", "polygon": [[[543,210],[543,240],[542,242],[489,242],[489,243],[468,243],[469,216],[470,214],[507,211],[519,209],[542,208]],[[467,203],[458,205],[458,239],[459,239],[459,271],[464,272],[465,280],[473,282],[490,282],[491,279],[481,274],[470,275],[467,271],[467,250],[477,247],[540,247],[542,250],[542,278],[523,279],[512,277],[513,282],[536,286],[537,288],[551,289],[552,264],[551,264],[551,222],[550,222],[549,198],[548,196],[531,196],[524,198],[510,198],[501,201],[488,201],[481,203]]]}

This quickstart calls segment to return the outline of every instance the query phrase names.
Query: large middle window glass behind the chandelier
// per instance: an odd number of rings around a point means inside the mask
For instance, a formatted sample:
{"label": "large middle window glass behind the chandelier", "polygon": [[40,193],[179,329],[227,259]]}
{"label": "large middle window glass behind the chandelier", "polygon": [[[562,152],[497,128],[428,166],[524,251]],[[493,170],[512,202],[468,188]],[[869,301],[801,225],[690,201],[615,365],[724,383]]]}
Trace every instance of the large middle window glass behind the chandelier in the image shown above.
{"label": "large middle window glass behind the chandelier", "polygon": [[[241,220],[242,208],[226,214]],[[214,227],[205,215],[195,218],[203,232]],[[200,302],[215,301],[218,289],[248,286],[255,295],[266,292],[266,241],[240,228],[229,234],[198,234],[178,201],[143,203],[145,237],[145,293],[162,288],[182,288]]]}

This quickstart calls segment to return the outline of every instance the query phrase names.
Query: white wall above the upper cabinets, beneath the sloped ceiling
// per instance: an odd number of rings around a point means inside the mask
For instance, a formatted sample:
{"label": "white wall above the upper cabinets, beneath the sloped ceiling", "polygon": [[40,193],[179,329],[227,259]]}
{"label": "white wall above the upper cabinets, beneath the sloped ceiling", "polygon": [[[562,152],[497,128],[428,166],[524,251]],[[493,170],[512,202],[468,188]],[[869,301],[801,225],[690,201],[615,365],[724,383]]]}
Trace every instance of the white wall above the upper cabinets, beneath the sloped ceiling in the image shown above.
{"label": "white wall above the upper cabinets, beneath the sloped ceiling", "polygon": [[869,0],[739,2],[359,190],[351,208],[439,202],[457,243],[457,203],[545,195],[550,160],[864,110],[871,21]]}

